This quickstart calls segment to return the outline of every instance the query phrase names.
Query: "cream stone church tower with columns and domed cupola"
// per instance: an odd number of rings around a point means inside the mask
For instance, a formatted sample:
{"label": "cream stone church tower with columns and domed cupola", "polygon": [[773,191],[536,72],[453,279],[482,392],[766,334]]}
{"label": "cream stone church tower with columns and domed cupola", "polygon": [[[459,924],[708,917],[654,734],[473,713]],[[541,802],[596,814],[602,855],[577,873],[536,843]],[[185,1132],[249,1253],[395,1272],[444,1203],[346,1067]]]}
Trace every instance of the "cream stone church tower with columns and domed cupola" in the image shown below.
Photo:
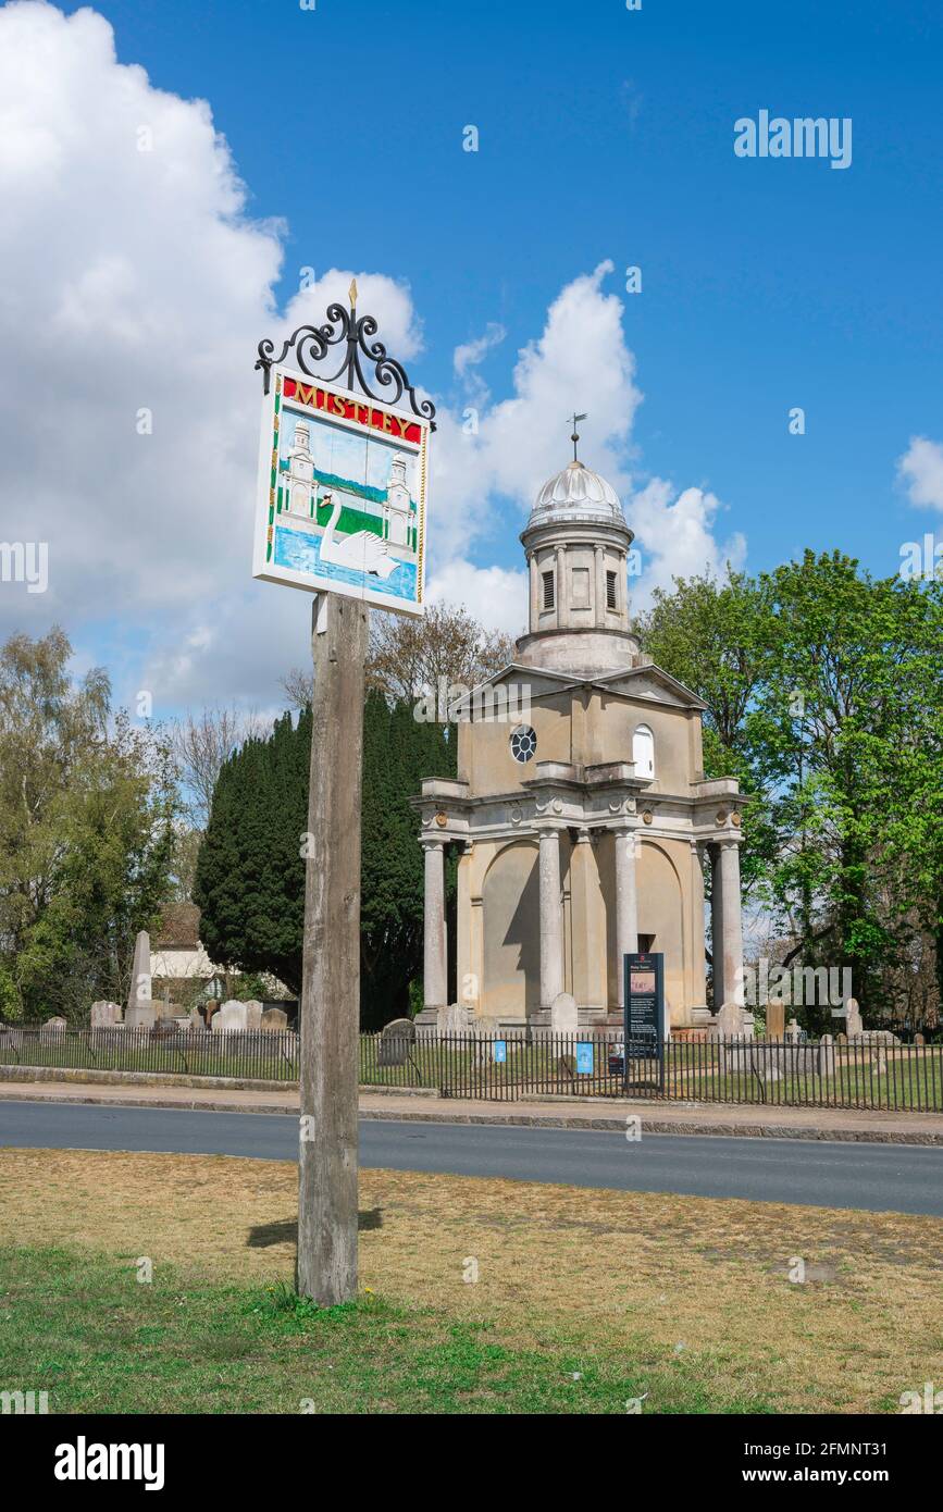
{"label": "cream stone church tower with columns and domed cupola", "polygon": [[526,686],[527,723],[459,723],[458,777],[423,782],[417,800],[426,1019],[447,1007],[452,845],[459,1018],[464,1007],[506,1028],[550,1025],[570,993],[580,1025],[617,1025],[623,956],[653,950],[665,957],[671,1027],[694,1028],[707,1018],[706,865],[715,1005],[742,1001],[745,800],[736,779],[704,779],[706,706],[632,632],[633,534],[615,490],[576,458],[576,440],[521,534],[527,632],[488,683]]}

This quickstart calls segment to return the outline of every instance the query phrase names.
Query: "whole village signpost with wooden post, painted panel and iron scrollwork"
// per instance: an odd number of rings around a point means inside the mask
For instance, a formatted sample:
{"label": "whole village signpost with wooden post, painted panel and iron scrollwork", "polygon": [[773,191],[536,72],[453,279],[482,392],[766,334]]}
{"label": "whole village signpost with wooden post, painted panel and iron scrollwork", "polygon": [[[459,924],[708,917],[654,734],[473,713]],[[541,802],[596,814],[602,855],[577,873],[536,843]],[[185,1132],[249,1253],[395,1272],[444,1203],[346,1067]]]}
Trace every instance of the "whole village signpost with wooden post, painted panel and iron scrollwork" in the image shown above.
{"label": "whole village signpost with wooden post, painted panel and iron scrollwork", "polygon": [[[299,1005],[299,1296],[357,1296],[360,800],[370,606],[423,614],[428,440],[435,407],[373,340],[376,321],[332,304],[264,375],[254,575],[314,591],[304,962]],[[337,372],[322,370],[331,349]],[[292,352],[293,366],[286,366]],[[363,358],[373,363],[370,389]],[[310,364],[316,366],[311,367]],[[366,402],[364,398],[366,396]],[[405,399],[405,404],[402,402]]]}

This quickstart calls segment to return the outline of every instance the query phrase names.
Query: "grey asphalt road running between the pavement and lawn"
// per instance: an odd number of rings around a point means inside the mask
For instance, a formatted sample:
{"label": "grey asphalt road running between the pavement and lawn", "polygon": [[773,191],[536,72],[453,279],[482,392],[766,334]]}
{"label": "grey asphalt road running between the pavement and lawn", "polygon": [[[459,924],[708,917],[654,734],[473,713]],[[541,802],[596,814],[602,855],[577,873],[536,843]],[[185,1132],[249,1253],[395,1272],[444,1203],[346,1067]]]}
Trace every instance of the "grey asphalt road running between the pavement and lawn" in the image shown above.
{"label": "grey asphalt road running between the pavement and lawn", "polygon": [[[0,1101],[0,1148],[127,1149],[292,1160],[284,1114]],[[943,1149],[363,1119],[367,1167],[506,1176],[618,1191],[923,1213],[943,1217]]]}

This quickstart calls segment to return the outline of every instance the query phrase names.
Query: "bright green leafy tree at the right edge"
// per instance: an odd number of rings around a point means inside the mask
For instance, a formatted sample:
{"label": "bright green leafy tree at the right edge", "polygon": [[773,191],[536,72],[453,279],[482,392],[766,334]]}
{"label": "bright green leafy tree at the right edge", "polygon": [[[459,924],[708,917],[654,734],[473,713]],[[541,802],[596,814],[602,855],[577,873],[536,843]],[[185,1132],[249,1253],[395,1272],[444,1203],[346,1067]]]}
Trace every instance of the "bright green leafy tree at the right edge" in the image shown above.
{"label": "bright green leafy tree at the right edge", "polygon": [[849,966],[855,996],[883,1005],[911,913],[941,918],[943,585],[805,552],[763,587],[771,665],[748,739],[781,841],[769,898],[796,954]]}

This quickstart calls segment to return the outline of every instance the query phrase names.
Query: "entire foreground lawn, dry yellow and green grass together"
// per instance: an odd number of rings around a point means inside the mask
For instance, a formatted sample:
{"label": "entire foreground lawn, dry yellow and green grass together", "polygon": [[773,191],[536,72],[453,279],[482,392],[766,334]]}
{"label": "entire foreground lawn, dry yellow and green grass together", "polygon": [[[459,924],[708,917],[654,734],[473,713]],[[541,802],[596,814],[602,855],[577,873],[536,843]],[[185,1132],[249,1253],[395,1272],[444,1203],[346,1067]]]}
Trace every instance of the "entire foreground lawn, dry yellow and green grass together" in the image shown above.
{"label": "entire foreground lawn, dry yellow and green grass together", "polygon": [[295,1217],[289,1163],[0,1151],[0,1390],[53,1412],[762,1414],[896,1412],[943,1379],[935,1219],[367,1170],[363,1294],[319,1311],[290,1294]]}

